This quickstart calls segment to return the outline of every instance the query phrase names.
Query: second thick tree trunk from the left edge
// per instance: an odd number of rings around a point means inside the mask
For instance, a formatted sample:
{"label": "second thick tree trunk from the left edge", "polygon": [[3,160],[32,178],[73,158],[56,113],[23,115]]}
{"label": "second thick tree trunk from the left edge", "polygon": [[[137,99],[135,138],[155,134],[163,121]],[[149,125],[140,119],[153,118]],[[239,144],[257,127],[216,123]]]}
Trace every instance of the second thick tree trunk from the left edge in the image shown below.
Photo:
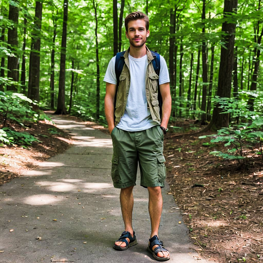
{"label": "second thick tree trunk from the left edge", "polygon": [[[39,76],[40,76],[40,44],[41,44],[41,23],[42,23],[42,2],[36,1],[34,31],[32,34],[32,49],[30,51],[32,80],[28,86],[28,97],[39,102]],[[33,109],[38,110],[38,105],[33,104]]]}

